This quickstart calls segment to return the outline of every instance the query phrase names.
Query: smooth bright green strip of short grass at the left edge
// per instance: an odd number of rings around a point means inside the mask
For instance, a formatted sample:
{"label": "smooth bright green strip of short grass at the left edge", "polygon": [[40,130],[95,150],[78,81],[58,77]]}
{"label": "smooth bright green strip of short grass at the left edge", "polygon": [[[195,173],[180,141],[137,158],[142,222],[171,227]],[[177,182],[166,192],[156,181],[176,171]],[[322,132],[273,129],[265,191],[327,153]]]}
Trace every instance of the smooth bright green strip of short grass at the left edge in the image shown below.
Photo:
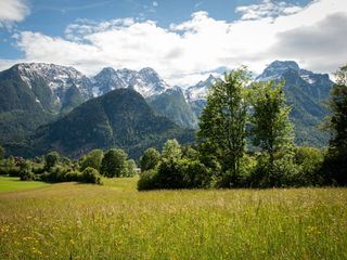
{"label": "smooth bright green strip of short grass at the left edge", "polygon": [[36,181],[23,182],[20,180],[20,178],[16,178],[16,177],[0,176],[0,192],[20,191],[20,190],[35,188],[35,187],[41,187],[41,186],[48,186],[48,185],[50,184],[44,182],[36,182]]}

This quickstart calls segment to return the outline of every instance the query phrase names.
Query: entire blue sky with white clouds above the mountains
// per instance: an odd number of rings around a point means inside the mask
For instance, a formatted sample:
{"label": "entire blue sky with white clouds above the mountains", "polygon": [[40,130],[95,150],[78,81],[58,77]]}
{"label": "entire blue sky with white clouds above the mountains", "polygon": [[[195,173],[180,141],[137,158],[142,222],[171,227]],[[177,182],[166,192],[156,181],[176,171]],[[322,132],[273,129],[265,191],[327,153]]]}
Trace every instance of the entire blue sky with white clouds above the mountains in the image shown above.
{"label": "entire blue sky with white clouds above the mountains", "polygon": [[0,69],[21,62],[154,68],[187,87],[275,60],[347,63],[347,0],[0,0]]}

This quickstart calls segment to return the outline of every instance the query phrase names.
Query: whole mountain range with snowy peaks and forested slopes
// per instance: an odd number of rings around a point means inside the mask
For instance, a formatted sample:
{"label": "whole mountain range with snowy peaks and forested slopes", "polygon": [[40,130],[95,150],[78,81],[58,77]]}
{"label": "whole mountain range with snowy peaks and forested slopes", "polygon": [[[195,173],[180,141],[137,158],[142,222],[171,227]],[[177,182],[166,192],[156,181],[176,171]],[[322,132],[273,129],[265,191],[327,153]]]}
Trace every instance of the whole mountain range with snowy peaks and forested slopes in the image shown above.
{"label": "whole mountain range with snowy peaks and forested slopes", "polygon": [[[275,61],[256,78],[269,79],[285,80],[296,142],[324,145],[327,136],[317,127],[327,115],[323,102],[332,87],[329,75],[301,69],[295,62]],[[137,154],[134,147],[158,144],[164,136],[192,141],[192,131],[184,129],[197,128],[208,88],[216,80],[209,76],[182,89],[166,83],[152,68],[106,67],[89,78],[73,67],[17,64],[0,73],[0,142],[10,151],[33,156],[50,148],[79,155],[110,145]],[[127,102],[118,106],[121,99]],[[24,153],[28,146],[31,152]]]}

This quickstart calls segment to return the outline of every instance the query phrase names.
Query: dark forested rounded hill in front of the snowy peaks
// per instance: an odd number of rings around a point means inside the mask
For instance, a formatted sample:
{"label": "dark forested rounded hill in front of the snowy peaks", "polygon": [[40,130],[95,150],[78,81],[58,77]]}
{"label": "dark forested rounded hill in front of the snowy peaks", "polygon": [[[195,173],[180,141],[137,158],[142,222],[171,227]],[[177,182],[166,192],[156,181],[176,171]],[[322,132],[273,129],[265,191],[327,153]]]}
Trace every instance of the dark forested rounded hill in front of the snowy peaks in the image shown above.
{"label": "dark forested rounded hill in front of the snowy peaks", "polygon": [[192,142],[194,133],[182,130],[167,118],[155,116],[138,92],[118,89],[92,99],[55,122],[39,128],[28,142],[30,151],[12,148],[15,154],[25,156],[55,150],[77,157],[92,148],[117,146],[138,157],[145,148],[159,148],[172,138],[182,143]]}

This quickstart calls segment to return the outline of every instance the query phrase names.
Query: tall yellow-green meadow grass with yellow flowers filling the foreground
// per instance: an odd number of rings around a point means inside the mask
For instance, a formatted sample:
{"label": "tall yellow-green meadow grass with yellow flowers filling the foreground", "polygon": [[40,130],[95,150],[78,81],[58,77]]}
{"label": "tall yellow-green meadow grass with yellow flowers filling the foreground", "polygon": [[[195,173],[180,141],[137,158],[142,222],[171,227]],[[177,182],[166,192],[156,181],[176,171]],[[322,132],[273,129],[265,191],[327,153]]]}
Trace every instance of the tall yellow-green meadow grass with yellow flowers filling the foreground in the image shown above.
{"label": "tall yellow-green meadow grass with yellow flowers filling the foreground", "polygon": [[346,188],[139,193],[136,182],[2,192],[0,259],[347,259]]}

